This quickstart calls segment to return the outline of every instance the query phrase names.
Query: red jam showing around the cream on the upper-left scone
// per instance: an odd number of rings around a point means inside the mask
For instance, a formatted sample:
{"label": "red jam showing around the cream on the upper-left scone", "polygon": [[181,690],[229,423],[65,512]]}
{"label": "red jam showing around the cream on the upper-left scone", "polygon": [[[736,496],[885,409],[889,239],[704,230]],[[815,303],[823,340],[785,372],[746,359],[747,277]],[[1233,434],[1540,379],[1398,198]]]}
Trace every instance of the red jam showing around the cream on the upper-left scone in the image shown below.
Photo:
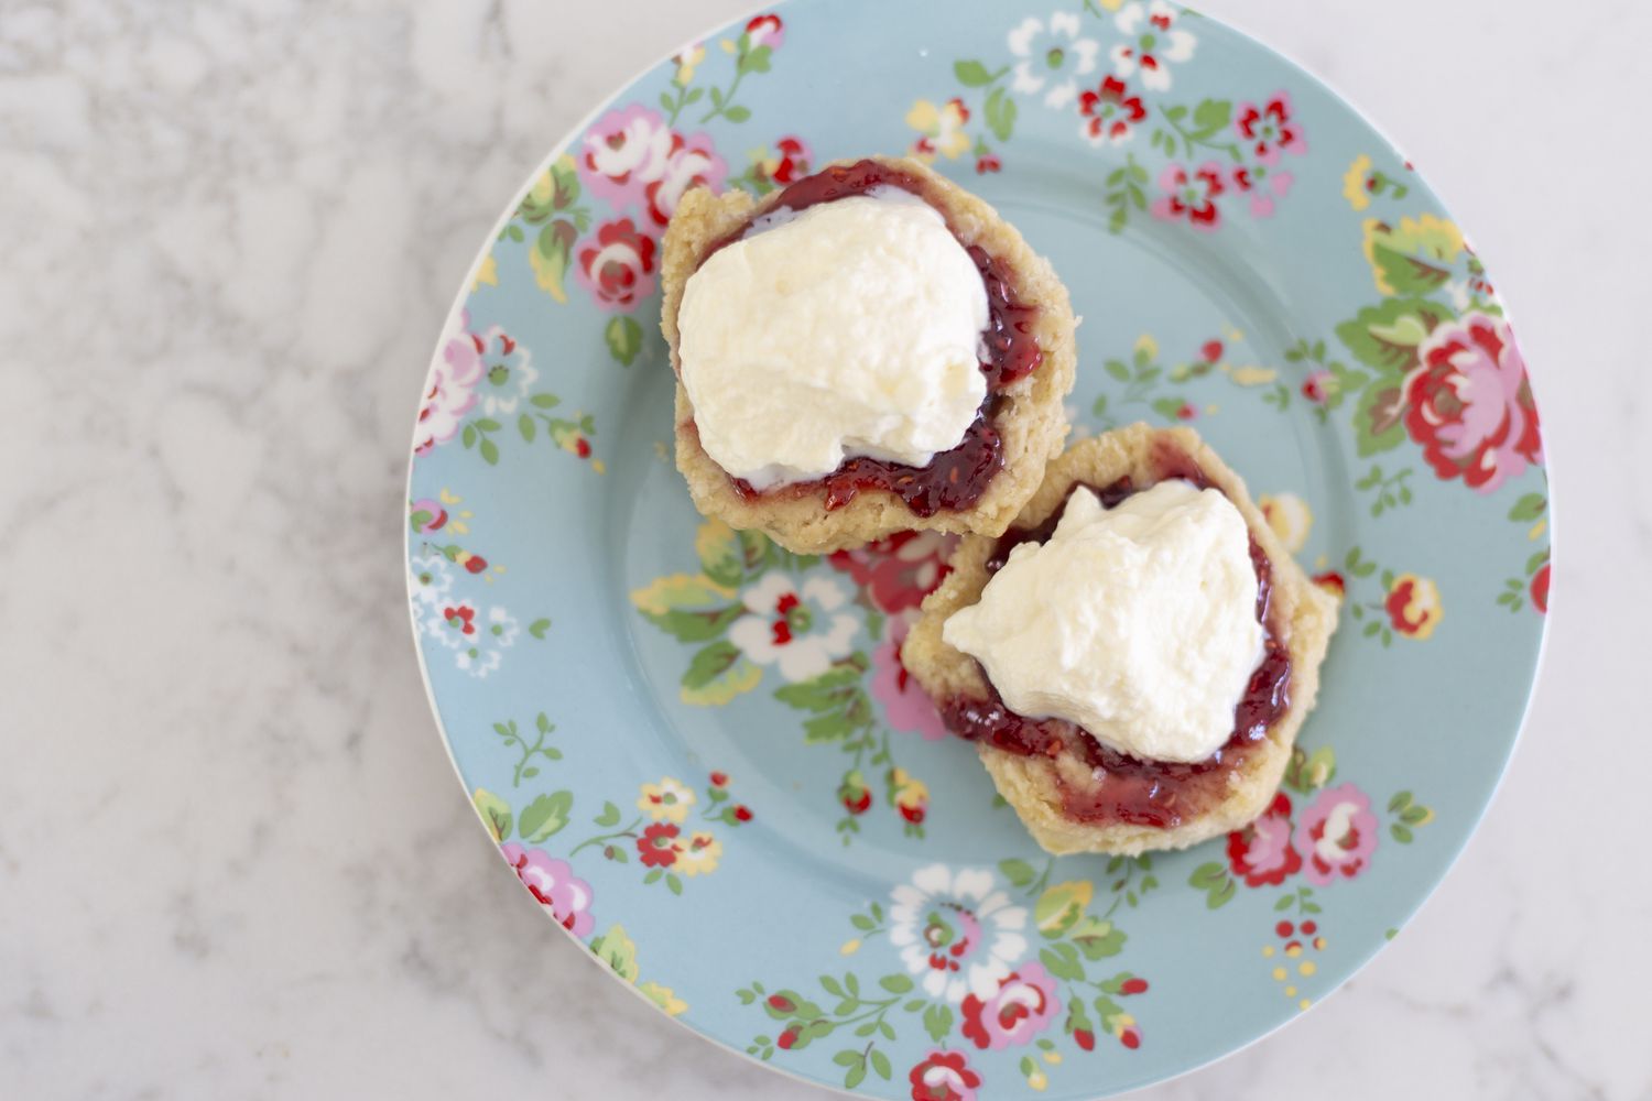
{"label": "red jam showing around the cream on the upper-left scone", "polygon": [[[899,187],[919,198],[928,198],[923,180],[876,160],[859,160],[852,165],[833,165],[824,172],[816,172],[811,177],[798,180],[780,193],[780,198],[770,210],[781,206],[805,210],[816,203],[864,195],[877,187]],[[937,206],[937,210],[940,208]],[[953,231],[953,236],[958,236],[958,229],[950,220],[947,224]],[[747,226],[740,226],[717,241],[705,256],[710,256],[730,241],[737,241],[745,231]],[[981,282],[986,286],[988,320],[981,333],[986,347],[986,358],[981,361],[981,373],[986,375],[986,399],[981,403],[980,414],[970,424],[958,446],[937,454],[923,467],[887,462],[884,459],[854,457],[844,459],[843,465],[823,479],[793,482],[763,492],[752,489],[752,484],[743,479],[732,479],[735,492],[752,500],[765,495],[806,497],[823,487],[826,510],[831,512],[847,505],[861,490],[874,489],[894,494],[919,517],[933,517],[942,510],[960,512],[973,507],[981,499],[993,475],[1004,465],[1004,444],[996,424],[998,395],[1009,383],[1026,378],[1037,370],[1044,353],[1032,337],[1037,307],[1018,300],[1014,272],[1009,266],[990,256],[980,246],[966,246],[966,251],[981,272]],[[700,262],[705,262],[705,259],[702,258]]]}

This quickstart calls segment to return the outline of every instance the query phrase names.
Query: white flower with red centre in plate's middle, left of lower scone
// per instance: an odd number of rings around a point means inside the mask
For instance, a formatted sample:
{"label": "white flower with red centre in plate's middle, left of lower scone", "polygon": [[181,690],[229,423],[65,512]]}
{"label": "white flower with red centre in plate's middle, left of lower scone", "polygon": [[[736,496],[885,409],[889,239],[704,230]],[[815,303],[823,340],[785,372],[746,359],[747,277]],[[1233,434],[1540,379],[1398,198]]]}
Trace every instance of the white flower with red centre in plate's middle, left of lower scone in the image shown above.
{"label": "white flower with red centre in plate's middle, left of lower scone", "polygon": [[849,589],[834,578],[803,584],[785,573],[765,574],[740,594],[747,616],[729,627],[729,640],[758,665],[778,665],[796,683],[819,677],[852,649],[856,617],[844,611]]}

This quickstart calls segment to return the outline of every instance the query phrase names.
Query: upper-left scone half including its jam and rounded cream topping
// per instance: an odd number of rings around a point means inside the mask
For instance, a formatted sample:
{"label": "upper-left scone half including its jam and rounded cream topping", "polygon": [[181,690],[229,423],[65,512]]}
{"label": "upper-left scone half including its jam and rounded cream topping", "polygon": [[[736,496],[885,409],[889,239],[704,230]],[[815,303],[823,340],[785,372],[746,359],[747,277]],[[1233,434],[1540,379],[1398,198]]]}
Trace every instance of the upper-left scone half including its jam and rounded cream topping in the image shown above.
{"label": "upper-left scone half including its jam and rounded cream topping", "polygon": [[684,195],[661,330],[695,507],[798,553],[999,535],[1067,434],[1067,291],[998,213],[907,158],[753,201]]}

